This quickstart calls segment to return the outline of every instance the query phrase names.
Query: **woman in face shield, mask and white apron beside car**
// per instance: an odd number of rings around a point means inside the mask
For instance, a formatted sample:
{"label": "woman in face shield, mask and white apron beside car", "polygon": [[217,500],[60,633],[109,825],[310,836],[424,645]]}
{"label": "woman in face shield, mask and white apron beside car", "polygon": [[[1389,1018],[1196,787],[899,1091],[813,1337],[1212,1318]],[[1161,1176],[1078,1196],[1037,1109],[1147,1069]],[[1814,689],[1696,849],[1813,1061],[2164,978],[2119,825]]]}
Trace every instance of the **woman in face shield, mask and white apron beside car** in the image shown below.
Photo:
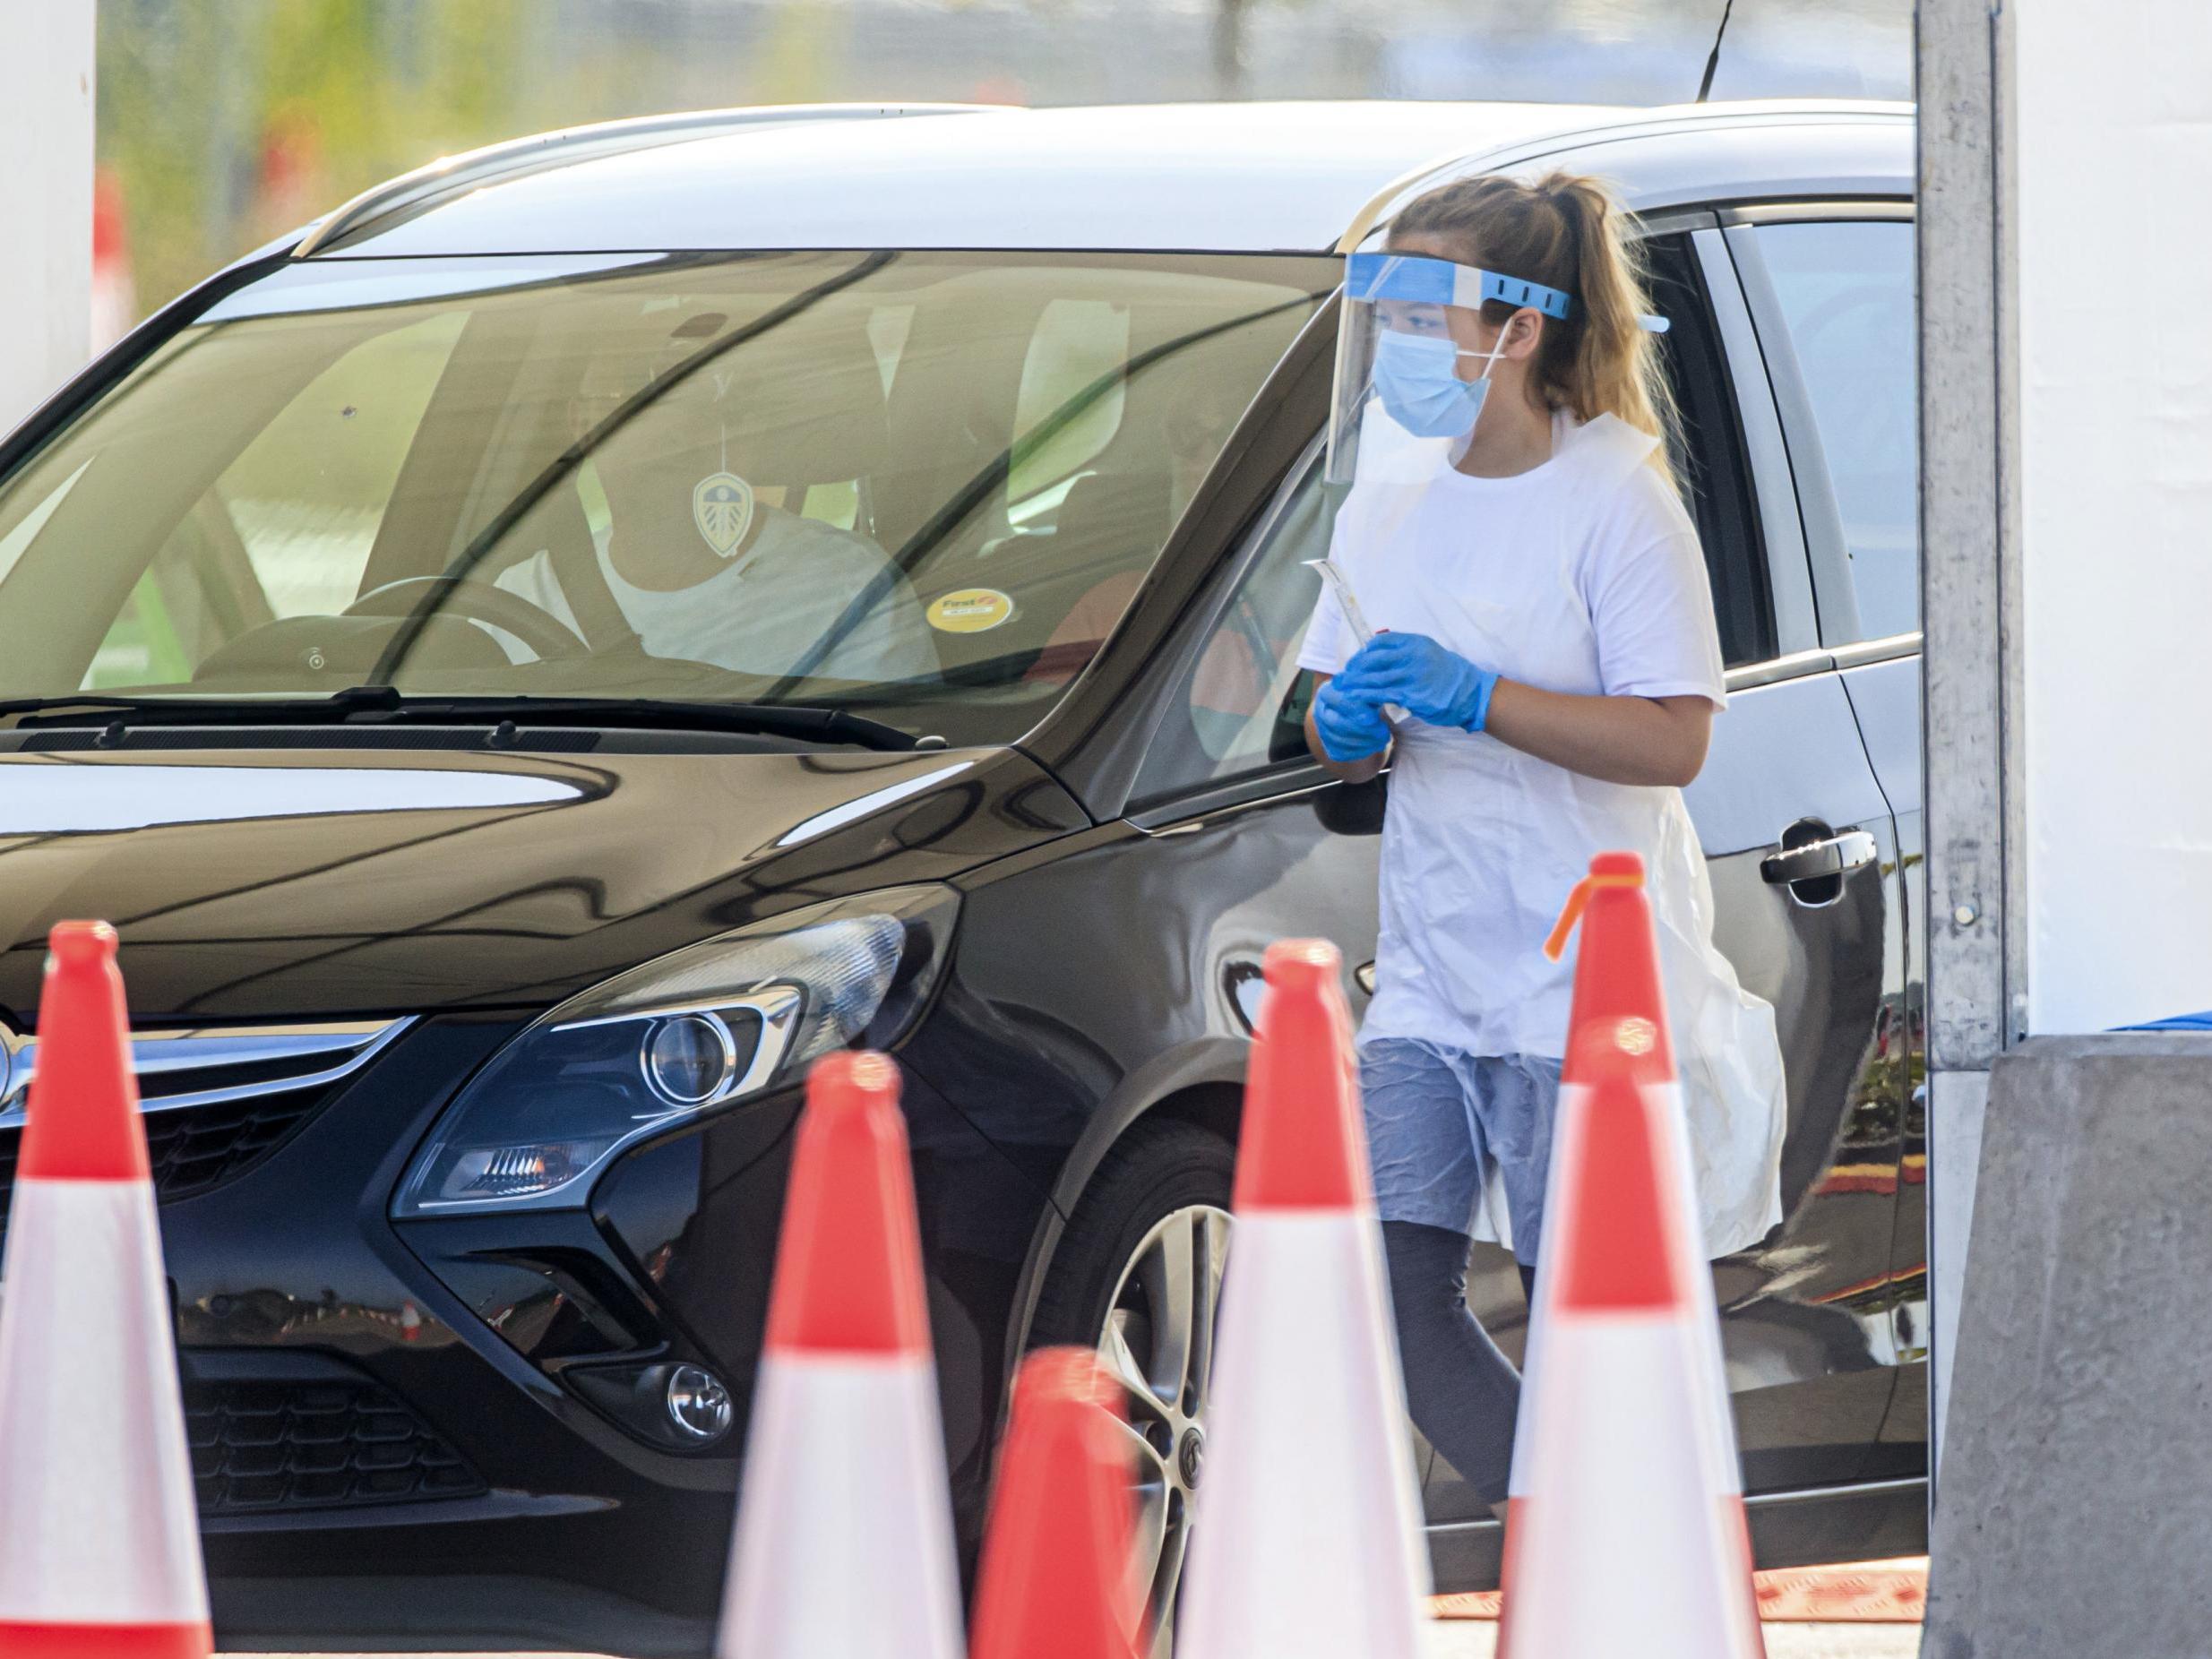
{"label": "woman in face shield, mask and white apron beside car", "polygon": [[[1781,1221],[1774,1009],[1712,945],[1681,801],[1725,708],[1630,228],[1597,181],[1462,179],[1345,281],[1307,743],[1391,761],[1360,1088],[1407,1398],[1504,1506],[1520,1378],[1467,1312],[1469,1239],[1533,1285],[1590,854],[1644,856],[1710,1256]],[[1371,626],[1371,637],[1358,637]]]}

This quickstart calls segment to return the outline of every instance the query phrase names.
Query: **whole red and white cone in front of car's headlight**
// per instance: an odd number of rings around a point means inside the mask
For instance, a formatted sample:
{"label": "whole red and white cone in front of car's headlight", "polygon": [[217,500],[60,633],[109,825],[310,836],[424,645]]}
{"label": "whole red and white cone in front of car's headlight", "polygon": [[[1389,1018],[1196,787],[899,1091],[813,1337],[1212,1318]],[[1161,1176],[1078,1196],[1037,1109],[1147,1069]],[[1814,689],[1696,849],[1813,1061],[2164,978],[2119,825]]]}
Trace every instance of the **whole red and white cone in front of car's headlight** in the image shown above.
{"label": "whole red and white cone in front of car's headlight", "polygon": [[723,1659],[953,1659],[945,1427],[898,1066],[807,1077],[754,1383]]}

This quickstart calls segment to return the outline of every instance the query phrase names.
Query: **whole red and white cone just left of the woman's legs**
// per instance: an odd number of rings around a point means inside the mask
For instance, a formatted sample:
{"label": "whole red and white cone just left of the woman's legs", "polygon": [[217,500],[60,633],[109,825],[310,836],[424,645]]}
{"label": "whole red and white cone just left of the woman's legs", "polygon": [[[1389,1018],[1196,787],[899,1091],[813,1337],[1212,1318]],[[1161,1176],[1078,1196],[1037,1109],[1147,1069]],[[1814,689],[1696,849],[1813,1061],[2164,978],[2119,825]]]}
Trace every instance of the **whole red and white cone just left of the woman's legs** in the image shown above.
{"label": "whole red and white cone just left of the woman's legs", "polygon": [[1267,949],[1186,1659],[1411,1659],[1429,1557],[1336,949]]}

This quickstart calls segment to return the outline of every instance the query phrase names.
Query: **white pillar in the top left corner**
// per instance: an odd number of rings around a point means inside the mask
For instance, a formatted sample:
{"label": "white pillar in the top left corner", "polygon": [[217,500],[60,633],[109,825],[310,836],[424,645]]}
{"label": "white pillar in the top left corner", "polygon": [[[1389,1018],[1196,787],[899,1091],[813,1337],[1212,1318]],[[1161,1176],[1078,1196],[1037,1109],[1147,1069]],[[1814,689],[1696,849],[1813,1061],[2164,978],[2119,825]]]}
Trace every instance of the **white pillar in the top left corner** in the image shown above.
{"label": "white pillar in the top left corner", "polygon": [[93,0],[0,7],[0,431],[84,363],[93,281]]}

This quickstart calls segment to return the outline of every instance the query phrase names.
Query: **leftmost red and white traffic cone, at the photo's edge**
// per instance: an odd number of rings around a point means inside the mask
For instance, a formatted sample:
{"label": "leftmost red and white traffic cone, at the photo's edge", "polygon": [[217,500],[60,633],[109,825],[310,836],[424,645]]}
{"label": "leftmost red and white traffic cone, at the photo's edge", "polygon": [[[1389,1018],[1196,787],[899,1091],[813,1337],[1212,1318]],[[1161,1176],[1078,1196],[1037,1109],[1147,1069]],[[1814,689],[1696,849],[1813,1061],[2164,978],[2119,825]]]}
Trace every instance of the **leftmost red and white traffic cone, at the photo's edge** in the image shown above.
{"label": "leftmost red and white traffic cone, at the photo's edge", "polygon": [[206,1659],[115,929],[60,922],[0,1270],[0,1655]]}

